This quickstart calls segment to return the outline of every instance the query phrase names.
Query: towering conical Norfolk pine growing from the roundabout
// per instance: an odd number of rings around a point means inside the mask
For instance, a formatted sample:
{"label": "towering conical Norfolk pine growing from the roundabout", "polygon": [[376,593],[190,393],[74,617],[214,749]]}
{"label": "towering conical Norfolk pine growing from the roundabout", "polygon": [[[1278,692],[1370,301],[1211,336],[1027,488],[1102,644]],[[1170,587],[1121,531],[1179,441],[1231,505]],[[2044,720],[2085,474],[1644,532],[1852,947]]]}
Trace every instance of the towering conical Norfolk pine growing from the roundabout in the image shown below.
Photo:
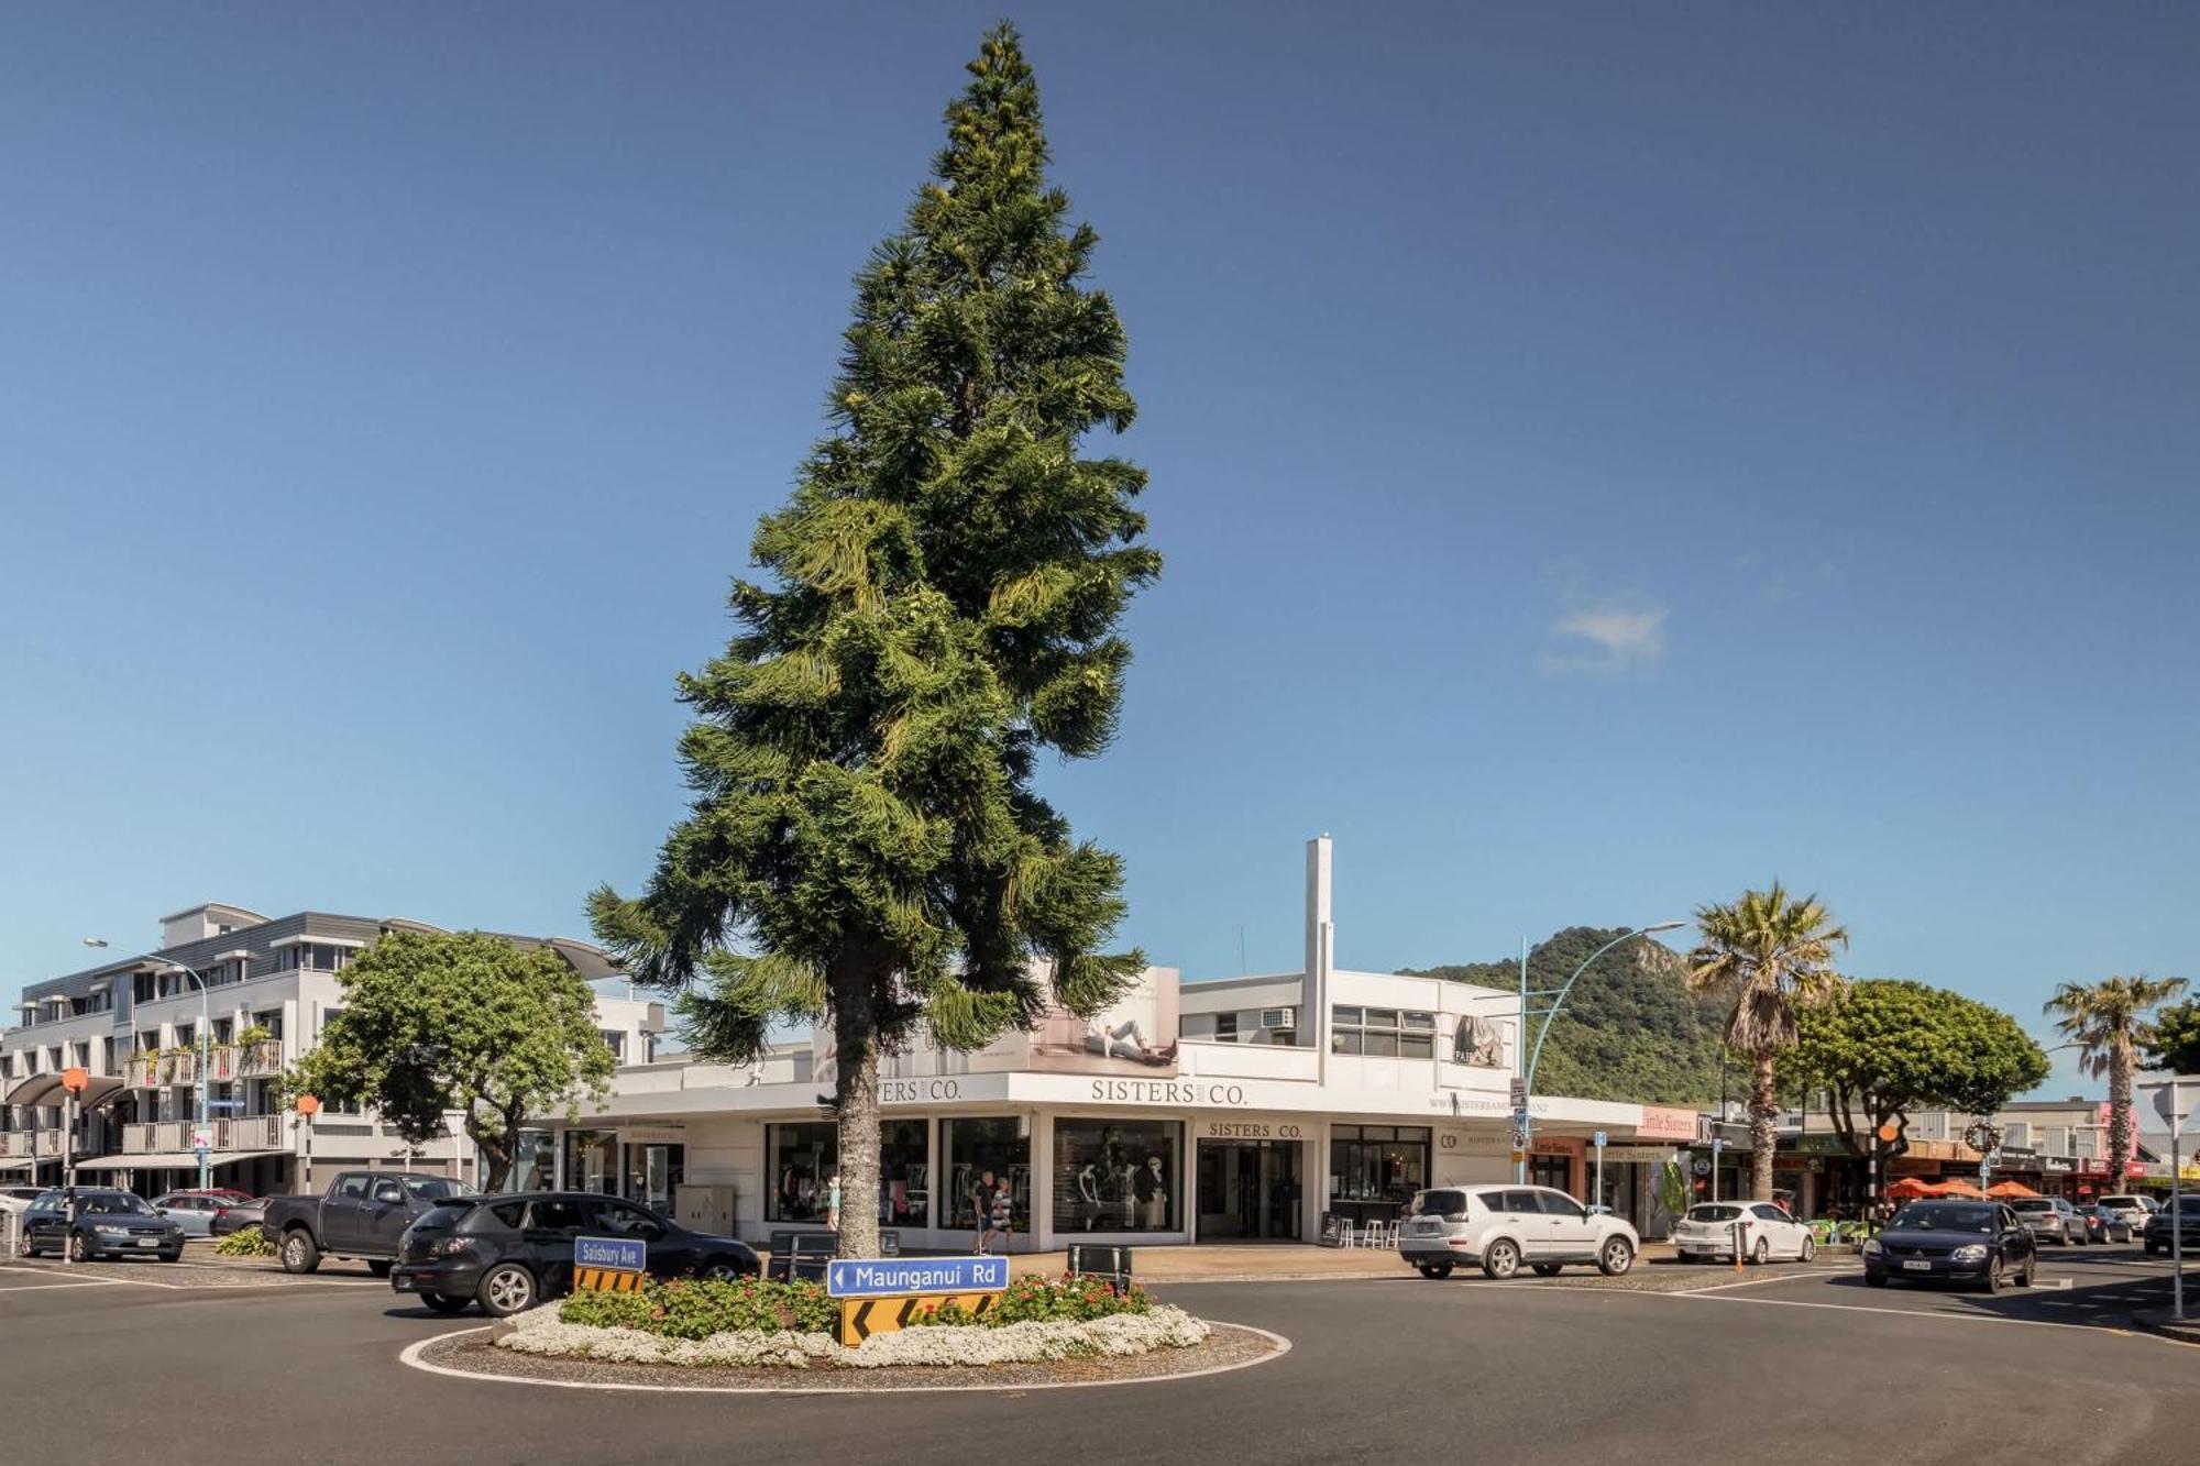
{"label": "towering conical Norfolk pine growing from the roundabout", "polygon": [[1144,473],[1080,456],[1135,412],[1124,335],[1080,284],[1096,236],[1045,180],[1014,29],[970,77],[906,229],[856,277],[834,431],[757,526],[741,632],[680,680],[693,808],[640,898],[592,896],[704,1052],[832,1024],[843,1257],[878,1250],[882,1050],[920,1024],[979,1048],[1049,997],[1093,1013],[1144,969],[1100,951],[1122,863],[1034,792],[1049,748],[1113,735],[1115,623],[1162,568]]}

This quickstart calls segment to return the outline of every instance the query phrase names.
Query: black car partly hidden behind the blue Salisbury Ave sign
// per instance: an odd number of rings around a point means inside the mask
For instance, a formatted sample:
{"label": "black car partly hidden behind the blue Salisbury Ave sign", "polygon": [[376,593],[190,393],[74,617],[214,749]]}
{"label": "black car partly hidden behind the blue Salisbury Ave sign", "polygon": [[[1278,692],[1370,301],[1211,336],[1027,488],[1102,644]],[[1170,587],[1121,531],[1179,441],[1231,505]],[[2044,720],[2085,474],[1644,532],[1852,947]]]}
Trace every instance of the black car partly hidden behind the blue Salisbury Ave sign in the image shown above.
{"label": "black car partly hidden behind the blue Salisbury Ave sign", "polygon": [[405,1228],[389,1288],[418,1294],[440,1314],[480,1303],[491,1319],[572,1290],[576,1237],[647,1244],[649,1277],[730,1281],[757,1277],[755,1248],[706,1237],[656,1211],[590,1191],[458,1197]]}

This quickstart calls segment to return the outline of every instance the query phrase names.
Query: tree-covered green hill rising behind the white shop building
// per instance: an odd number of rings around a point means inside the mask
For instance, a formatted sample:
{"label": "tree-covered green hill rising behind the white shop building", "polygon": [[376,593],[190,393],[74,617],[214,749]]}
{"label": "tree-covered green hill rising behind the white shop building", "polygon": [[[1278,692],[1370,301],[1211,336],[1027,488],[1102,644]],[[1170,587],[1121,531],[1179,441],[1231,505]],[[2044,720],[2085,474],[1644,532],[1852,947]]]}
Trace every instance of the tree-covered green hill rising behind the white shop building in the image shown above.
{"label": "tree-covered green hill rising behind the white shop building", "polygon": [[[1529,949],[1527,986],[1560,986],[1582,958],[1617,936],[1621,929],[1566,927]],[[1518,960],[1404,971],[1507,993],[1520,986]],[[1551,1024],[1551,1039],[1542,1046],[1536,1070],[1536,1092],[1716,1107],[1727,1006],[1690,993],[1683,973],[1681,955],[1648,938],[1597,958],[1573,984],[1566,1010]],[[1745,1083],[1740,1068],[1729,1070],[1736,1094]]]}

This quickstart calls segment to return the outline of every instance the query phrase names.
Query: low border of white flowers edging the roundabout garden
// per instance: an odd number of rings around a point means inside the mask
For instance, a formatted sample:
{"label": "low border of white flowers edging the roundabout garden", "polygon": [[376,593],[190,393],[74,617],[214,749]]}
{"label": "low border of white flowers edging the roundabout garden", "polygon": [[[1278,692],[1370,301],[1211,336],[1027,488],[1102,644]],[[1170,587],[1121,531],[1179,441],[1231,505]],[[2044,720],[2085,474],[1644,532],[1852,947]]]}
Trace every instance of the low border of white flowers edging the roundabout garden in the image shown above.
{"label": "low border of white flowers edging the roundabout garden", "polygon": [[1091,1323],[1010,1323],[1005,1327],[915,1327],[871,1334],[849,1349],[832,1334],[766,1334],[739,1330],[708,1338],[664,1338],[642,1330],[603,1330],[563,1323],[557,1305],[519,1314],[495,1343],[519,1354],[598,1358],[614,1365],[733,1365],[744,1369],[893,1369],[906,1365],[1036,1365],[1056,1358],[1096,1358],[1186,1349],[1212,1332],[1203,1319],[1157,1303],[1144,1314],[1111,1314]]}

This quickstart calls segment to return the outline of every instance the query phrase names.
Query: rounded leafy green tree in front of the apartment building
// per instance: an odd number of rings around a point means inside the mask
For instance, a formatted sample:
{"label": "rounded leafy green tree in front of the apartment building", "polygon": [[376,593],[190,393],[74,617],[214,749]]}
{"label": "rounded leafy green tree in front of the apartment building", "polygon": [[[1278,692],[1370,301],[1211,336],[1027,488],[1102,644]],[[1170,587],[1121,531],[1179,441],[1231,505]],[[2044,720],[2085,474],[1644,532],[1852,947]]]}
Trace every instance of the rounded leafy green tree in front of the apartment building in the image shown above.
{"label": "rounded leafy green tree in front of the apartment building", "polygon": [[484,1189],[504,1186],[530,1114],[579,1116],[618,1059],[596,995],[548,947],[484,931],[389,931],[337,973],[343,1013],[284,1079],[290,1094],[374,1105],[411,1145],[464,1114]]}

